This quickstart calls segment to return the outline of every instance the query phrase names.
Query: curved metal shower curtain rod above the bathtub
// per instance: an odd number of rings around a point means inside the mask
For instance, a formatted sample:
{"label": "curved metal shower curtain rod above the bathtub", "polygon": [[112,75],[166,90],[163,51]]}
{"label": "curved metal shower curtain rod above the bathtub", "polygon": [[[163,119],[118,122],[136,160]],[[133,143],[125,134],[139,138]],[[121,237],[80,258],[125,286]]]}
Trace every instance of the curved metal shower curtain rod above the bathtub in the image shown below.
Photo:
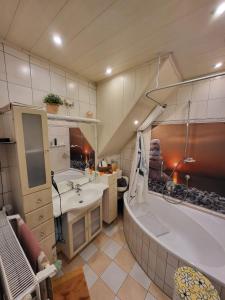
{"label": "curved metal shower curtain rod above the bathtub", "polygon": [[148,92],[145,93],[145,96],[147,98],[151,99],[152,101],[156,102],[158,105],[164,107],[163,104],[159,103],[157,100],[150,97],[150,94],[153,93],[153,92],[160,91],[160,90],[165,90],[165,89],[168,89],[168,88],[172,88],[172,87],[176,87],[176,86],[180,86],[180,85],[184,85],[184,84],[189,84],[189,83],[193,83],[193,82],[197,82],[197,81],[201,81],[201,80],[205,80],[205,79],[210,79],[210,78],[214,78],[214,77],[220,77],[220,76],[223,76],[223,75],[225,75],[225,72],[214,73],[214,74],[211,74],[211,75],[197,77],[197,78],[194,78],[194,79],[185,80],[185,81],[181,81],[181,82],[176,82],[176,83],[169,84],[169,85],[163,85],[161,87],[157,87],[157,88],[149,90]]}

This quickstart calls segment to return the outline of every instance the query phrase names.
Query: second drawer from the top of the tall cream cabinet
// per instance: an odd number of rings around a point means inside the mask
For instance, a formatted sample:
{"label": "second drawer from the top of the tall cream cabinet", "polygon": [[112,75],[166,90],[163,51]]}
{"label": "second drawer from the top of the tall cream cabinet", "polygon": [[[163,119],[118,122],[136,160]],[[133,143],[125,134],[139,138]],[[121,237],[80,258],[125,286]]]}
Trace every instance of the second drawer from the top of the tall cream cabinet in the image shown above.
{"label": "second drawer from the top of the tall cream cabinet", "polygon": [[52,203],[25,215],[26,223],[30,227],[30,229],[35,228],[36,226],[46,222],[52,217],[53,217]]}

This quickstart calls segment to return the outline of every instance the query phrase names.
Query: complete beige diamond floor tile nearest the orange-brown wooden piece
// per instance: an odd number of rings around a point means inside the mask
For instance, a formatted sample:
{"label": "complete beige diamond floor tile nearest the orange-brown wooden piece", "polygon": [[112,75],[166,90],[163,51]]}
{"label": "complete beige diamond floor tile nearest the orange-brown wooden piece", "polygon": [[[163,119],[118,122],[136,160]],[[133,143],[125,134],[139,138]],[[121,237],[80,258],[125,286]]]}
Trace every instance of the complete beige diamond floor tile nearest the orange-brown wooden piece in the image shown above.
{"label": "complete beige diamond floor tile nearest the orange-brown wooden piece", "polygon": [[110,265],[111,259],[103,252],[98,251],[88,261],[89,266],[100,276],[105,269]]}

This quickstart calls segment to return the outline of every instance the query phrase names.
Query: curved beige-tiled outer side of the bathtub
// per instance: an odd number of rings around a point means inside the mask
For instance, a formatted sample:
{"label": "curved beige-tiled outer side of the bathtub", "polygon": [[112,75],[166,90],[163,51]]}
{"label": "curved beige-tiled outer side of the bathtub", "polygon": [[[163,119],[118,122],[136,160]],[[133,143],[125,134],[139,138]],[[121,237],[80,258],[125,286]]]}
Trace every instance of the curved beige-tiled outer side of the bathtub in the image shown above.
{"label": "curved beige-tiled outer side of the bathtub", "polygon": [[[125,203],[124,234],[130,250],[151,280],[172,298],[174,273],[178,267],[188,266],[188,263],[167,251],[160,243],[145,233],[129,213],[126,205]],[[225,300],[225,286],[210,280],[219,292],[221,300]]]}

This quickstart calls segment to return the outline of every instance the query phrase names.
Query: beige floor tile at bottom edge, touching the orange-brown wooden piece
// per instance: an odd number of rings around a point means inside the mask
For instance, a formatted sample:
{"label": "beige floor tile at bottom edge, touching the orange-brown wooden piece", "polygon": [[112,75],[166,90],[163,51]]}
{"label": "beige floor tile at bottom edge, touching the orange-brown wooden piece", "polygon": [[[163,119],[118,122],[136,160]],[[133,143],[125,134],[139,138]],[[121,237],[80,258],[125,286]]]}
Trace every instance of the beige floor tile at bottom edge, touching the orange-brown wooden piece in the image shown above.
{"label": "beige floor tile at bottom edge, touching the orange-brown wooden piece", "polygon": [[99,278],[90,289],[91,300],[114,300],[115,294],[111,289]]}

